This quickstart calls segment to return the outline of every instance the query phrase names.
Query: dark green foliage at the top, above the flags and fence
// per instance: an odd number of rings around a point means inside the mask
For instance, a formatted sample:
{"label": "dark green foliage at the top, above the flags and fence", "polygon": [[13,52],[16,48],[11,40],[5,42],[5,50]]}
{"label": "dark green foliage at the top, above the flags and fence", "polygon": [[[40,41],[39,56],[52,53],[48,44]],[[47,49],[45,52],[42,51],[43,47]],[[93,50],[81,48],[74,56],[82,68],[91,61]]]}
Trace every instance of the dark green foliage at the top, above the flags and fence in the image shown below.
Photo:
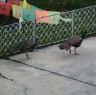
{"label": "dark green foliage at the top, above the flags and fence", "polygon": [[96,0],[27,0],[28,3],[45,10],[65,11],[96,4]]}

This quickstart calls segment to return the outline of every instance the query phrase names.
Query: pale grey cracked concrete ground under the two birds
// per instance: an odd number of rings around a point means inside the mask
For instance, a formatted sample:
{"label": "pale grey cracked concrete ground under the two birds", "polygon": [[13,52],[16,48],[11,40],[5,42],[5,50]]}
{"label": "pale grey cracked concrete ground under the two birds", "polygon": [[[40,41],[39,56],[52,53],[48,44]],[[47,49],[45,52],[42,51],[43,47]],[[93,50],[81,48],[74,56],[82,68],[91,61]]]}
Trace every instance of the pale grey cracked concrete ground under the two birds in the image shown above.
{"label": "pale grey cracked concrete ground under the two birds", "polygon": [[[0,60],[0,95],[96,95],[96,37],[69,55],[58,45]],[[74,53],[74,52],[73,52]]]}

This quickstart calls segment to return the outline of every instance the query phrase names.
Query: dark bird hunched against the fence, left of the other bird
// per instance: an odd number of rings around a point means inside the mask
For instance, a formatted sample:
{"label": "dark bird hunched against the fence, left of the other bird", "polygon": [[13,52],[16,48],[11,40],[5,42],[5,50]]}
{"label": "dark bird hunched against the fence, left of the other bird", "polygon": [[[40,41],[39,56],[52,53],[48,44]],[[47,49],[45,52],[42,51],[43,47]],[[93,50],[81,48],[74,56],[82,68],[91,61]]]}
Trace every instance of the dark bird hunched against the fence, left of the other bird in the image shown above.
{"label": "dark bird hunched against the fence, left of the other bird", "polygon": [[36,45],[37,45],[37,40],[33,41],[33,39],[27,39],[27,40],[23,40],[20,43],[18,43],[17,45],[15,45],[14,48],[9,49],[8,52],[10,52],[10,53],[12,53],[12,52],[14,53],[16,51],[25,52],[27,59],[30,59],[29,55],[28,55],[28,51],[30,49],[34,50]]}

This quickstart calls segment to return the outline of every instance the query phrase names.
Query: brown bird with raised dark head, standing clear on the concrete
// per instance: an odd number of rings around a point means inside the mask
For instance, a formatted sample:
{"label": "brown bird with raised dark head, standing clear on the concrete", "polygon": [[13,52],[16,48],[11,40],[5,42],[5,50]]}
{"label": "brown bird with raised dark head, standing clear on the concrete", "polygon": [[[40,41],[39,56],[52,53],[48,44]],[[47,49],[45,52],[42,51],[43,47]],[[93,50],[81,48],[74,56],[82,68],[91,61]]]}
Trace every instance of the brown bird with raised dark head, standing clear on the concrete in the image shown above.
{"label": "brown bird with raised dark head, standing clear on the concrete", "polygon": [[83,40],[86,38],[87,32],[82,32],[81,35],[74,35],[69,39],[65,40],[59,45],[60,50],[69,50],[69,54],[71,54],[71,47],[74,47],[75,55],[79,55],[76,49],[81,46]]}

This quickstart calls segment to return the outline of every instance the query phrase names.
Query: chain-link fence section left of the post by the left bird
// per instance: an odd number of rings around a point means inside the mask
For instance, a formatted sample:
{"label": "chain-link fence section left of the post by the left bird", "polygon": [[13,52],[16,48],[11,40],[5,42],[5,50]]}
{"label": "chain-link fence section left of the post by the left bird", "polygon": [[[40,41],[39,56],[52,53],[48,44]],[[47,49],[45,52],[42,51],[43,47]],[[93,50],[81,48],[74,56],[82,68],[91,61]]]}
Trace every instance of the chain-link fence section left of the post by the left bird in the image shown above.
{"label": "chain-link fence section left of the post by the left bird", "polygon": [[0,56],[9,54],[9,50],[14,48],[19,42],[33,38],[32,22],[15,23],[0,27]]}

